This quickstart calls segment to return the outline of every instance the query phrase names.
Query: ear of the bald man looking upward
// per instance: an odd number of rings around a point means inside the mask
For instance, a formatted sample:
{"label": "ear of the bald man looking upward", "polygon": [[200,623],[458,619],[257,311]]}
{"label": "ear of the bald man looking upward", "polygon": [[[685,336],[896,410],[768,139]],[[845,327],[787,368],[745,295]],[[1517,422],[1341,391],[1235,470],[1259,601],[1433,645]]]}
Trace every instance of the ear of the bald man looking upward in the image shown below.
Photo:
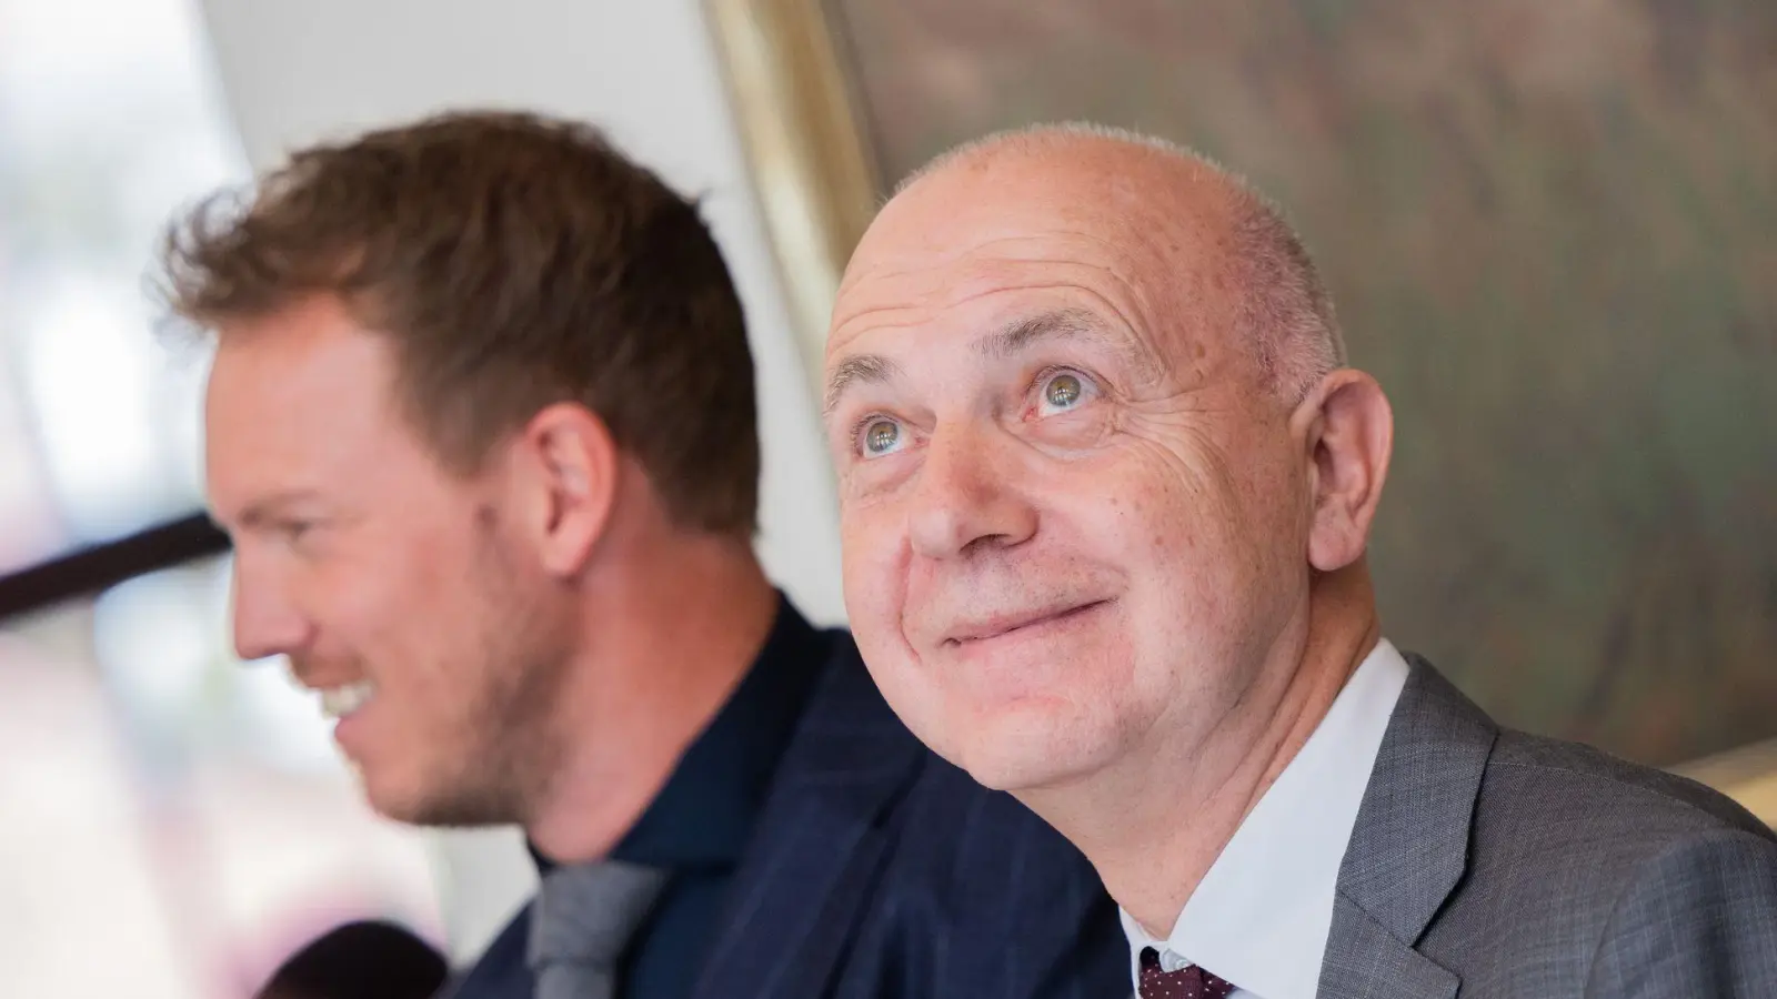
{"label": "ear of the bald man looking upward", "polygon": [[1313,523],[1308,562],[1333,572],[1358,562],[1388,478],[1395,414],[1383,386],[1363,372],[1333,372],[1290,418],[1308,459]]}

